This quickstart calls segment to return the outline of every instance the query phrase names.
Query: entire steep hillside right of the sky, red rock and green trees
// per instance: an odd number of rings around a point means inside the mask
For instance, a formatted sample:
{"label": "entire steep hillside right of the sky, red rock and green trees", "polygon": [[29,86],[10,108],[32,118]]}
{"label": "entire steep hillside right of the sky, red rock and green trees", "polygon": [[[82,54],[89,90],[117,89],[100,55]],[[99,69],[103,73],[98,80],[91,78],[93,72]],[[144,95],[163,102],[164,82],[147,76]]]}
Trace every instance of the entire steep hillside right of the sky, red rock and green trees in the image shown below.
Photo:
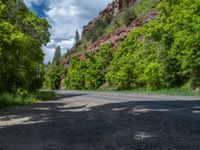
{"label": "entire steep hillside right of the sky, red rock and green trees", "polygon": [[199,91],[199,6],[199,0],[113,1],[49,68],[45,85]]}

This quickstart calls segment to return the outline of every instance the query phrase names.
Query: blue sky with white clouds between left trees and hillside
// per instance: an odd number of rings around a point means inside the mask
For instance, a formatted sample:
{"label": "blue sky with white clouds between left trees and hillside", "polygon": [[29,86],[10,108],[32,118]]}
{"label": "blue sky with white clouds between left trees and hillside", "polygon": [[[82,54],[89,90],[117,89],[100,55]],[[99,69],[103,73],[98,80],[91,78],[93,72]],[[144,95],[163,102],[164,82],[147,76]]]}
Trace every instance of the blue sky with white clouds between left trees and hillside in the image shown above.
{"label": "blue sky with white clouds between left trees and hillside", "polygon": [[113,0],[24,0],[26,5],[46,18],[52,26],[51,41],[45,46],[45,62],[52,59],[55,47],[62,53],[74,43],[75,31],[81,34],[82,27],[98,15]]}

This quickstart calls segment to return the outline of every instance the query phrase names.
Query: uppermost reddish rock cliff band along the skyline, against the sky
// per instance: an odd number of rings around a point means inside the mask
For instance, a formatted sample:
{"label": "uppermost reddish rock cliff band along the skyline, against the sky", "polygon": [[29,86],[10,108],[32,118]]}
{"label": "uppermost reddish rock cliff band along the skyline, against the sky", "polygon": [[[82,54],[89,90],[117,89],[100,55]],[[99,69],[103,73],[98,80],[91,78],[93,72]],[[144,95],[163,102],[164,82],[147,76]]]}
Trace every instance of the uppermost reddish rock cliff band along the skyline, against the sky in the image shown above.
{"label": "uppermost reddish rock cliff band along the skyline, against the sky", "polygon": [[95,23],[104,18],[106,15],[112,15],[113,17],[116,16],[118,13],[120,13],[123,9],[128,8],[132,5],[137,0],[115,0],[111,4],[107,6],[107,8],[99,13],[99,16],[97,16],[93,21],[90,21],[88,25],[83,27],[83,32],[82,32],[82,38],[84,38],[95,26]]}

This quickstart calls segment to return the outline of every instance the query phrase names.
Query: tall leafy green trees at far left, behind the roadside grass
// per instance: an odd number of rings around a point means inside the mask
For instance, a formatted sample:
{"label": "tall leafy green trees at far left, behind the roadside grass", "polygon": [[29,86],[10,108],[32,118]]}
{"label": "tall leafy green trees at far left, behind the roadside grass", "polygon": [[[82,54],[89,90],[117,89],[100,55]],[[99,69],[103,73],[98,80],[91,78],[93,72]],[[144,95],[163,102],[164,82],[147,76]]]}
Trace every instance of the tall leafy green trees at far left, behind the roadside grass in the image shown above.
{"label": "tall leafy green trees at far left, behind the roadside grass", "polygon": [[0,1],[0,91],[35,91],[43,75],[49,25],[18,1]]}

